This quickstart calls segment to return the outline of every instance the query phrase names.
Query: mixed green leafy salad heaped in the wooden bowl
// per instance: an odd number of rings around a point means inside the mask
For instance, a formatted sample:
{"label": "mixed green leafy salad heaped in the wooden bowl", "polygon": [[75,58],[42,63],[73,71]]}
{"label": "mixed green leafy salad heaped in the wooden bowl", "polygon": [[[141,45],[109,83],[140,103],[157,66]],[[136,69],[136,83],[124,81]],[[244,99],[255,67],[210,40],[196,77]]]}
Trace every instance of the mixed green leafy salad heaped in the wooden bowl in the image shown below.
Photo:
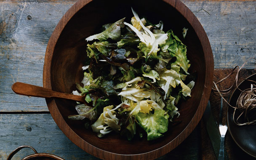
{"label": "mixed green leafy salad heaped in the wooden bowl", "polygon": [[99,137],[114,131],[128,140],[153,140],[179,117],[176,106],[191,96],[195,80],[186,45],[172,30],[164,32],[162,21],[151,24],[132,12],[131,23],[123,18],[104,24],[101,33],[86,38],[83,86],[73,91],[86,103],[77,104],[78,115],[69,119],[83,120]]}

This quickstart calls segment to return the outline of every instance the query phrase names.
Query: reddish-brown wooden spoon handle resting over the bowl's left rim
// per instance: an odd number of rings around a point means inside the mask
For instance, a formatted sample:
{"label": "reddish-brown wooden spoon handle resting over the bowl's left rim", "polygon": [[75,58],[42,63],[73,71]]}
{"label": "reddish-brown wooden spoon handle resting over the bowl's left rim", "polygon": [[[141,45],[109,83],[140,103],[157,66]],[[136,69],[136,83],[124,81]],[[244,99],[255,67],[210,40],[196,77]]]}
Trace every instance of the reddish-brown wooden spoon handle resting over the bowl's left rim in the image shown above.
{"label": "reddish-brown wooden spoon handle resting over the bowl's left rim", "polygon": [[85,96],[77,96],[69,93],[56,92],[48,88],[43,88],[36,85],[30,85],[27,83],[16,82],[11,86],[11,89],[15,93],[25,95],[25,96],[43,97],[43,98],[57,97],[57,98],[71,99],[74,101],[85,103]]}

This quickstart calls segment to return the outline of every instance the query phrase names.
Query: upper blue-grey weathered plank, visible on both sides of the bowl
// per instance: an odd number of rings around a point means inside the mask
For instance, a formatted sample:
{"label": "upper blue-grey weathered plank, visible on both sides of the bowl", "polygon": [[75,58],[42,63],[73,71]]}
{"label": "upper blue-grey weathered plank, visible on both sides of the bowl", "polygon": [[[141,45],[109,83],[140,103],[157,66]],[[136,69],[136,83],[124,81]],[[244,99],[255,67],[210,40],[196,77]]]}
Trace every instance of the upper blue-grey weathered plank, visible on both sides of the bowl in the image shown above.
{"label": "upper blue-grey weathered plank, visible on both sides of the bowl", "polygon": [[[182,0],[207,33],[215,68],[232,68],[255,57],[256,1]],[[42,86],[48,39],[70,1],[0,2],[0,112],[48,111],[44,99],[14,95],[20,81]],[[189,32],[189,31],[188,31]],[[246,68],[253,68],[248,63]]]}

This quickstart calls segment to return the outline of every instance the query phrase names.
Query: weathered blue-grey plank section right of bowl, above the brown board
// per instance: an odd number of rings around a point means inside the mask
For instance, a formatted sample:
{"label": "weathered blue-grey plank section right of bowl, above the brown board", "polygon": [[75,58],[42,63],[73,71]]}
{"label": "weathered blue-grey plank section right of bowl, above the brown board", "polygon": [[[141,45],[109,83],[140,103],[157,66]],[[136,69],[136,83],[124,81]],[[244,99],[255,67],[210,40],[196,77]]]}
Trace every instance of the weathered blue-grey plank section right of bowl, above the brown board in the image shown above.
{"label": "weathered blue-grey plank section right of bowl, above the brown board", "polygon": [[[182,0],[208,35],[215,68],[233,68],[256,57],[256,1]],[[189,31],[188,31],[189,32]],[[245,66],[255,68],[254,62]]]}

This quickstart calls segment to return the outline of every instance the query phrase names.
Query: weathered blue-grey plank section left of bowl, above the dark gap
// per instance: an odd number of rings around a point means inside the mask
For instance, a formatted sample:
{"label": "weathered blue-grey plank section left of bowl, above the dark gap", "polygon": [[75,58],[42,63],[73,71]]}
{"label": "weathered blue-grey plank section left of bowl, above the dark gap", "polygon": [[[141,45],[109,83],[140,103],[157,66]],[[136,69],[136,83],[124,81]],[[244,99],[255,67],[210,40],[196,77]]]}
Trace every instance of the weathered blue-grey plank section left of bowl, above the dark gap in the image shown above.
{"label": "weathered blue-grey plank section left of bowl, above the dark gap", "polygon": [[44,99],[15,95],[11,85],[19,81],[43,86],[48,39],[61,17],[75,2],[38,3],[30,0],[1,3],[0,111],[48,111]]}

